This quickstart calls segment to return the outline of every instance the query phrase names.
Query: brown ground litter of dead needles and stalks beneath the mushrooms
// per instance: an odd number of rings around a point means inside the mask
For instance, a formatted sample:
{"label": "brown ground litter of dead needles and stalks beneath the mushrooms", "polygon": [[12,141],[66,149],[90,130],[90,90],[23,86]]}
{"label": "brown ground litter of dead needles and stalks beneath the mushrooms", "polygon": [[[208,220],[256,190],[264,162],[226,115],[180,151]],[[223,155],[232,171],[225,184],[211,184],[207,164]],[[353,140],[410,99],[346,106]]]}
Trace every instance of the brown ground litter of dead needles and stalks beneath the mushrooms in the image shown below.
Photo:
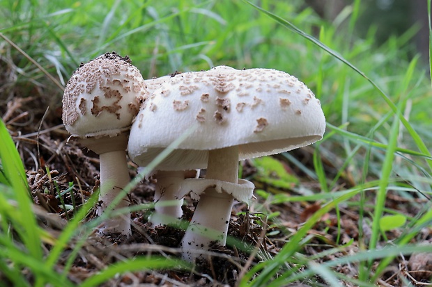
{"label": "brown ground litter of dead needles and stalks beneath the mushrooms", "polygon": [[[28,89],[26,92],[32,96],[17,97],[16,95],[20,93],[15,91],[14,94],[9,94],[12,96],[6,97],[7,94],[3,90],[0,98],[2,101],[0,115],[17,143],[17,149],[24,161],[33,200],[39,206],[40,224],[54,236],[58,236],[66,220],[73,216],[72,212],[65,212],[64,206],[77,206],[79,208],[88,199],[94,188],[98,187],[98,156],[73,143],[68,145],[69,135],[61,125],[61,110],[52,108],[44,116],[45,110],[38,110],[38,107],[49,104],[47,97],[36,88]],[[309,149],[301,149],[293,154],[305,165],[311,166]],[[326,158],[323,158],[323,162],[327,163],[327,172],[332,174],[334,169],[331,162],[327,161]],[[249,161],[245,161],[243,165],[244,177],[253,179],[256,168]],[[130,175],[134,177],[136,166],[130,162],[130,167]],[[311,190],[317,190],[318,186],[309,183],[302,172],[291,170],[288,165],[286,168],[300,178],[302,181],[300,184],[308,186]],[[70,186],[71,182],[73,183],[72,186]],[[255,183],[263,190],[275,190],[264,183],[258,181]],[[350,185],[349,174],[346,174],[339,186],[343,189]],[[154,182],[151,179],[141,182],[130,195],[132,204],[152,202],[154,188]],[[67,192],[64,192],[65,190]],[[63,202],[57,197],[58,191],[64,192]],[[293,194],[291,190],[277,190],[277,192]],[[373,197],[371,196],[371,198]],[[415,199],[415,201],[417,203],[424,202],[423,199]],[[192,217],[196,202],[192,202],[190,199],[187,199],[186,202],[184,219],[188,220]],[[252,252],[252,256],[249,252],[242,252],[237,247],[214,246],[209,254],[211,260],[197,263],[193,272],[178,270],[132,272],[112,279],[105,286],[137,286],[138,284],[151,284],[148,286],[223,286],[228,284],[234,286],[242,272],[264,260],[265,256],[275,256],[284,243],[289,240],[291,234],[320,208],[320,204],[320,202],[270,204],[268,200],[262,197],[257,197],[249,211],[244,204],[237,204],[233,208],[229,234],[238,238],[241,245],[246,249],[257,248],[255,250],[257,252]],[[373,211],[373,202],[369,206],[365,215]],[[419,212],[419,205],[416,206],[412,200],[402,198],[395,192],[389,193],[387,206],[408,216],[415,216]],[[261,211],[268,214],[278,212],[279,215],[273,219],[274,221],[266,221]],[[350,240],[353,240],[353,243],[341,252],[317,260],[318,263],[333,260],[346,254],[353,254],[361,248],[359,245],[367,244],[370,234],[369,225],[364,224],[362,227],[363,236],[360,237],[357,207],[346,204],[340,206],[339,211],[339,224],[337,215],[333,212],[321,218],[321,221],[309,232],[309,243],[304,247],[303,252],[307,255],[313,255],[348,243]],[[75,259],[70,270],[70,279],[78,284],[111,263],[139,254],[178,256],[177,245],[184,231],[175,227],[153,229],[146,221],[148,212],[132,213],[134,235],[131,238],[105,237],[93,233],[85,241],[77,259]],[[49,213],[54,213],[54,215]],[[88,220],[94,216],[94,212],[89,213]],[[387,233],[388,240],[397,238],[400,235],[399,232],[395,230]],[[431,229],[424,229],[415,240],[422,243],[430,242],[432,240]],[[77,242],[72,242],[70,249],[63,253],[61,261],[56,266],[59,272],[63,270],[75,244]],[[47,245],[47,252],[49,252],[49,248]],[[387,268],[379,283],[382,286],[402,286],[401,278],[412,282],[415,282],[416,279],[424,281],[431,273],[417,271],[429,270],[432,272],[431,265],[432,259],[430,257],[423,256],[409,261],[409,258],[399,256]],[[337,267],[338,272],[346,274],[348,277],[356,277],[357,269],[358,266],[356,265]],[[0,274],[0,281],[1,279],[3,278]],[[307,284],[314,283],[314,285],[319,286],[320,283],[324,284],[323,282],[317,277],[315,281]]]}

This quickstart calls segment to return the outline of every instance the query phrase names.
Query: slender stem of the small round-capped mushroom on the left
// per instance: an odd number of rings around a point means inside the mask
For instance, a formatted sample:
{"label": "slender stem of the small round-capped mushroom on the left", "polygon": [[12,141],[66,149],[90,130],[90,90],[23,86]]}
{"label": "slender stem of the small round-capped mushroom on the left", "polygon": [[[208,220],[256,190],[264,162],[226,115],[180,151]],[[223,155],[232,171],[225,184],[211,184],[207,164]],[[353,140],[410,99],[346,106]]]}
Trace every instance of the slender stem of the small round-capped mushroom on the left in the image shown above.
{"label": "slender stem of the small round-capped mushroom on the left", "polygon": [[[107,207],[111,205],[114,199],[123,188],[130,182],[128,160],[126,158],[125,149],[128,144],[128,136],[126,133],[109,138],[106,137],[101,143],[100,138],[85,138],[80,139],[88,149],[99,154],[100,161],[100,193],[99,201],[102,202],[98,206],[97,213],[102,215],[107,211]],[[116,206],[111,206],[111,211],[118,208],[128,207],[129,202],[123,198]],[[103,223],[103,233],[122,233],[130,235],[130,215],[121,215],[116,218],[109,218]]]}

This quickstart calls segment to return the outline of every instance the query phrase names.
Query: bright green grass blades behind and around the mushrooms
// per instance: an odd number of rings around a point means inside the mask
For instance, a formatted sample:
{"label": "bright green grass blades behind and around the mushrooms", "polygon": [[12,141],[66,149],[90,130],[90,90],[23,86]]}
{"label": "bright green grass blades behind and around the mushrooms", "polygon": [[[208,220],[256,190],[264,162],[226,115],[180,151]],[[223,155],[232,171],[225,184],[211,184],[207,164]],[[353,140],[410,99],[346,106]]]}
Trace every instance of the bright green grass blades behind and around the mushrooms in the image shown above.
{"label": "bright green grass blades behind and around the mushrooms", "polygon": [[[277,256],[268,254],[268,260],[245,270],[238,285],[313,283],[319,274],[332,286],[340,280],[373,286],[395,256],[427,250],[408,243],[422,227],[431,225],[430,200],[417,218],[406,218],[398,227],[402,235],[392,245],[383,246],[380,220],[398,213],[385,206],[389,190],[408,199],[432,196],[432,120],[425,108],[432,106],[432,95],[425,73],[428,65],[418,56],[408,56],[415,29],[376,47],[373,27],[366,38],[356,34],[361,8],[361,1],[355,0],[330,23],[303,7],[302,1],[2,1],[0,33],[10,42],[0,42],[0,50],[14,63],[14,81],[8,90],[26,97],[31,87],[38,87],[52,95],[47,101],[50,110],[60,106],[62,91],[42,68],[65,85],[79,63],[111,50],[128,54],[145,78],[215,65],[268,67],[297,76],[321,100],[327,133],[314,146],[314,168],[291,154],[285,156],[316,180],[322,192],[295,188],[299,196],[266,193],[265,197],[270,204],[319,201],[323,206],[298,231],[286,234],[288,240]],[[6,92],[0,95],[1,101],[8,99]],[[4,124],[0,136],[0,272],[16,286],[48,282],[73,286],[67,273],[59,277],[53,267],[92,202],[82,207],[59,238],[46,233],[32,212],[24,167]],[[334,163],[333,173],[325,169],[324,159]],[[341,188],[339,182],[348,171],[353,186]],[[368,206],[371,197],[373,212]],[[369,224],[371,237],[360,235],[357,254],[317,265],[314,262],[353,242],[306,256],[302,249],[311,240],[308,231],[325,213],[347,204],[362,215],[361,233]],[[269,212],[264,207],[260,211]],[[51,254],[44,254],[43,243],[54,245]],[[358,279],[335,272],[337,264],[358,264]],[[130,259],[88,279],[84,286],[97,286],[118,272],[137,270],[138,265],[171,268],[181,263]],[[30,270],[34,282],[20,276],[24,269]]]}

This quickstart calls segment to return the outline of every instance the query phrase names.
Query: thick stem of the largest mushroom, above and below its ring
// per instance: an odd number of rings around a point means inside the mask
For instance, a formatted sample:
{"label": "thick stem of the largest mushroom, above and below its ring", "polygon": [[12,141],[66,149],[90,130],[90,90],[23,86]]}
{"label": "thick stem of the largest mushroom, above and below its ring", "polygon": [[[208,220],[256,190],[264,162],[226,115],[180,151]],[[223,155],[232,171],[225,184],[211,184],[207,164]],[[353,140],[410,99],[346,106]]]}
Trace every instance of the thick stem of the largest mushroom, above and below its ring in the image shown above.
{"label": "thick stem of the largest mushroom, above and below its ring", "polygon": [[[237,146],[210,150],[206,179],[237,183]],[[220,245],[226,244],[233,201],[232,195],[217,192],[215,188],[207,188],[201,193],[194,216],[180,243],[183,259],[194,261],[202,256],[202,254],[196,253],[196,250],[206,251],[210,249],[210,243],[213,241],[217,241]]]}

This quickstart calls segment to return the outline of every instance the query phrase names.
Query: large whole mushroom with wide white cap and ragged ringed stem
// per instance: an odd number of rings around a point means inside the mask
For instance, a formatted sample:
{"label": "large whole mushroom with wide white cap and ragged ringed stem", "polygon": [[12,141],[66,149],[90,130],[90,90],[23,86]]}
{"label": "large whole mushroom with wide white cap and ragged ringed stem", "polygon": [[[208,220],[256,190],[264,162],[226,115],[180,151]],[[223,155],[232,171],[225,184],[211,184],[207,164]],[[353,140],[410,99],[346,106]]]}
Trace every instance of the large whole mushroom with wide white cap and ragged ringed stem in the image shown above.
{"label": "large whole mushroom with wide white cap and ragged ringed stem", "polygon": [[[169,95],[162,91],[169,90]],[[237,70],[219,66],[187,72],[153,92],[132,125],[133,161],[150,163],[192,125],[197,128],[158,165],[162,170],[207,168],[206,179],[185,179],[180,195],[199,199],[182,240],[183,259],[216,240],[226,244],[234,199],[249,202],[254,185],[238,179],[238,161],[277,154],[321,140],[325,117],[313,92],[294,76],[275,69]],[[148,107],[147,106],[147,107]],[[141,129],[157,136],[138,140]]]}

